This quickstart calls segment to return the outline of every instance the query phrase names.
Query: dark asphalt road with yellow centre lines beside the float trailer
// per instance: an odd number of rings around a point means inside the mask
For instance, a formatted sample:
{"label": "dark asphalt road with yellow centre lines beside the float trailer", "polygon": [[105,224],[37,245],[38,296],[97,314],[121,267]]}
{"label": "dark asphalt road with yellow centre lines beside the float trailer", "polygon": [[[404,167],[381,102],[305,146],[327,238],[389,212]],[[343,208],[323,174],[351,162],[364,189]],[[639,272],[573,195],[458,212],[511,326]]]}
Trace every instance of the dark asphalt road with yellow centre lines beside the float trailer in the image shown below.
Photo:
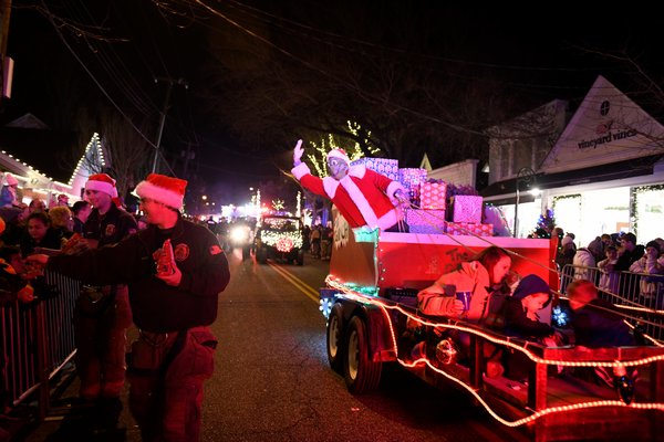
{"label": "dark asphalt road with yellow centre lines beside the float trailer", "polygon": [[[241,261],[239,252],[229,255],[231,282],[212,326],[219,346],[206,385],[201,441],[516,440],[467,394],[430,388],[400,367],[385,368],[377,391],[349,393],[328,365],[325,320],[318,308],[328,262],[307,256],[304,266],[260,265]],[[76,387],[75,378],[64,382],[48,420],[21,440],[141,440],[126,407],[117,431],[86,431],[98,415],[77,408]]]}

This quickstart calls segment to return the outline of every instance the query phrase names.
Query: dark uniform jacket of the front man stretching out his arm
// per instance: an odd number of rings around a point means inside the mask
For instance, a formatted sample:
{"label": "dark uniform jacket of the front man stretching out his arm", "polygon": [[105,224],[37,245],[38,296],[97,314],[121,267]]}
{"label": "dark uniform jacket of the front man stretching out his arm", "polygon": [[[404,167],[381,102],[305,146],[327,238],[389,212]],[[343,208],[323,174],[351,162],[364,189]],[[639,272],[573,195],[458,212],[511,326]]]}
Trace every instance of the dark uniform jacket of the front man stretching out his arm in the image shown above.
{"label": "dark uniform jacket of the front man stretching out his arm", "polygon": [[[177,287],[155,276],[156,253],[168,238],[183,273]],[[134,323],[153,333],[212,324],[219,292],[230,280],[217,238],[206,227],[179,215],[173,229],[149,225],[115,245],[77,255],[51,256],[46,267],[89,284],[128,284]]]}

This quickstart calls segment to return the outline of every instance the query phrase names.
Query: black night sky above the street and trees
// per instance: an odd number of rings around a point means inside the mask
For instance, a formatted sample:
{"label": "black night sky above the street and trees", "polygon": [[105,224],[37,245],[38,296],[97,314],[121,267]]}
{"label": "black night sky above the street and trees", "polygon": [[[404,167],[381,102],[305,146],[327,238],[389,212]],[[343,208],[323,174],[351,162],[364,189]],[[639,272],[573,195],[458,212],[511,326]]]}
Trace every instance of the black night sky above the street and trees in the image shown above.
{"label": "black night sky above the street and trees", "polygon": [[[13,1],[8,51],[17,63],[12,112],[31,112],[52,128],[66,130],[74,126],[69,119],[71,107],[112,99],[127,115],[148,116],[153,126],[143,135],[156,140],[166,91],[163,78],[183,78],[188,88],[173,87],[163,147],[178,173],[184,168],[181,152],[194,151],[188,172],[221,193],[227,190],[229,199],[238,189],[279,178],[279,168],[289,167],[291,148],[288,133],[276,135],[273,144],[264,137],[260,145],[247,143],[210,108],[211,101],[206,99],[207,86],[215,83],[210,42],[222,40],[229,30],[245,32],[249,42],[245,52],[235,54],[238,60],[251,63],[253,54],[264,51],[266,42],[250,34],[261,29],[271,42],[295,54],[289,63],[298,64],[304,74],[309,60],[307,53],[298,53],[302,43],[298,39],[303,38],[289,34],[295,29],[308,29],[307,43],[320,41],[321,52],[334,35],[335,41],[346,38],[343,43],[349,48],[393,51],[398,63],[415,70],[432,63],[461,66],[465,81],[499,82],[504,95],[518,98],[520,107],[515,106],[515,112],[553,98],[578,103],[600,74],[631,93],[636,92],[632,78],[639,70],[660,84],[664,72],[664,19],[645,2],[620,10],[609,3],[583,9],[573,3],[530,3],[516,9],[377,0],[160,2],[169,10],[148,0],[48,3],[55,17],[64,19],[56,21],[58,30],[43,13],[24,8],[32,2]],[[201,4],[236,23],[215,17]],[[251,15],[263,12],[269,20],[256,28]],[[90,27],[95,23],[97,28]],[[86,40],[74,27],[102,35],[104,42]],[[636,64],[615,59],[624,53]],[[656,107],[652,112],[657,116]],[[291,144],[298,138],[293,134]],[[438,166],[444,165],[434,164]]]}

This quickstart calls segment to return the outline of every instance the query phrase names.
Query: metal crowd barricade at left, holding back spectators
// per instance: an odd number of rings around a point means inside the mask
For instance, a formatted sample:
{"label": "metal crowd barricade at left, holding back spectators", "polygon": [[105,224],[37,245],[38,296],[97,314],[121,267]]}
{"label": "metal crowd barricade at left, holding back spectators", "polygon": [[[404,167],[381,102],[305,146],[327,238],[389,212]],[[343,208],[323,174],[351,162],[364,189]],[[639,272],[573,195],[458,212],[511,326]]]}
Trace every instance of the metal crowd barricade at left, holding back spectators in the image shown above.
{"label": "metal crowd barricade at left, holding back spectators", "polygon": [[0,381],[14,406],[41,390],[38,400],[44,410],[49,380],[75,354],[73,312],[81,282],[46,271],[33,286],[33,303],[0,306],[6,360]]}

